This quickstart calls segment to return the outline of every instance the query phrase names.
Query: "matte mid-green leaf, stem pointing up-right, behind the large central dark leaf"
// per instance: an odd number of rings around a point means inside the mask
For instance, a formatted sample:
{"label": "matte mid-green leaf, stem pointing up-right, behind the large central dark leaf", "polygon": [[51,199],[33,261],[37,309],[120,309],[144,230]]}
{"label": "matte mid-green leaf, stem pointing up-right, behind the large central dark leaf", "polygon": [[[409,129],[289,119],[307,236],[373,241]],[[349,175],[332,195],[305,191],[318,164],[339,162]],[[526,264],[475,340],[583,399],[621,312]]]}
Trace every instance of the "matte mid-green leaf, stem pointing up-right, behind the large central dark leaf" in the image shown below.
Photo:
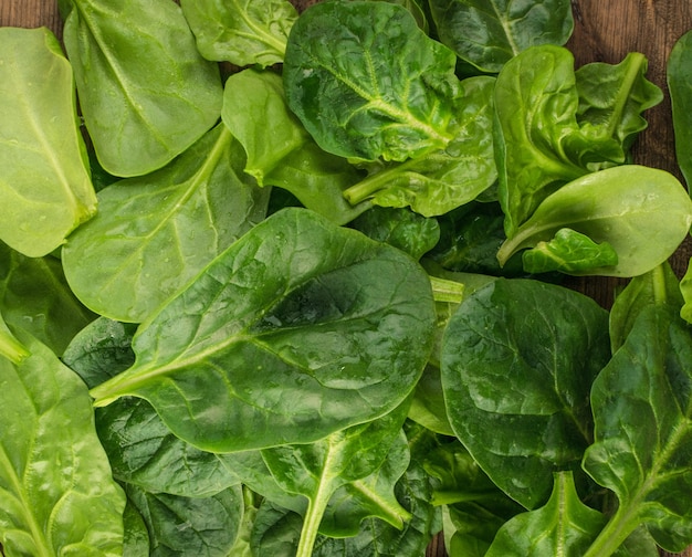
{"label": "matte mid-green leaf, stem pointing up-right, behind the large central dark leaf", "polygon": [[243,165],[220,124],[167,167],[101,190],[99,214],[63,250],[73,292],[99,315],[145,320],[264,219],[269,191]]}

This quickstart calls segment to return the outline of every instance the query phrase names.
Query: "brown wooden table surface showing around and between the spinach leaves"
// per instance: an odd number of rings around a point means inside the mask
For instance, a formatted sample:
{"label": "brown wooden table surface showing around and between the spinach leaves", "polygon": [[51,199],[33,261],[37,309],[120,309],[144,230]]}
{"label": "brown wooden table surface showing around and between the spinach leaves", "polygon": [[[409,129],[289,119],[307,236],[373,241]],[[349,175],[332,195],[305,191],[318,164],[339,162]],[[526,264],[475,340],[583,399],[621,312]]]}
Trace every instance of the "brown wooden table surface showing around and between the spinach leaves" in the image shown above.
{"label": "brown wooden table surface showing around and between the spinach leaves", "polygon": [[[294,3],[304,8],[314,0],[295,0]],[[646,113],[649,128],[640,135],[633,148],[635,160],[668,170],[682,179],[674,156],[665,62],[678,38],[692,29],[692,0],[573,0],[572,4],[575,31],[568,46],[575,54],[577,65],[588,62],[618,63],[632,51],[648,57],[648,77],[663,88],[665,99]],[[53,0],[0,0],[0,25],[45,25],[60,38],[62,23]],[[671,258],[679,276],[686,270],[691,256],[692,241],[688,240]],[[618,281],[588,277],[575,278],[570,284],[609,307]],[[428,550],[429,557],[444,555],[440,539]],[[692,557],[692,548],[681,555]]]}

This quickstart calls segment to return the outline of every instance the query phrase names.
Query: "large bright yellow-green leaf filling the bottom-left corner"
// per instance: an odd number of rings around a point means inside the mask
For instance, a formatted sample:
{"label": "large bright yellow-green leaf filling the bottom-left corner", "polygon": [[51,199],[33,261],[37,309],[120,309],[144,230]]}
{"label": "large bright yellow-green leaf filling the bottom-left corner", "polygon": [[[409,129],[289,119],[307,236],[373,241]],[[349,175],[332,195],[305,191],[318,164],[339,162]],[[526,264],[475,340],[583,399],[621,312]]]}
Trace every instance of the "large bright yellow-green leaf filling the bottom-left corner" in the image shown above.
{"label": "large bright yellow-green leaf filling the bottom-left corner", "polygon": [[7,555],[122,555],[125,497],[94,430],[86,387],[21,329],[0,357],[0,544]]}

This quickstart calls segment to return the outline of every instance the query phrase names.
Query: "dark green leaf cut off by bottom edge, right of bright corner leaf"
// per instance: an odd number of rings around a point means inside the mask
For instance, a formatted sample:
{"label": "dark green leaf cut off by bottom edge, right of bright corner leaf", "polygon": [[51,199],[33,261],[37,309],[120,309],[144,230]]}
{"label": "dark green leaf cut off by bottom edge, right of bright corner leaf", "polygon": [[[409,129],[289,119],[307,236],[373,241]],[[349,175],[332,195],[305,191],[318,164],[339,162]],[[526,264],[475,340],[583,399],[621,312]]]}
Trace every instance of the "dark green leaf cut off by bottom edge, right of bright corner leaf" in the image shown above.
{"label": "dark green leaf cut off by bottom edge, right of bright corner leaf", "polygon": [[149,555],[227,557],[243,512],[240,486],[209,497],[179,497],[126,486],[127,497],[149,533]]}

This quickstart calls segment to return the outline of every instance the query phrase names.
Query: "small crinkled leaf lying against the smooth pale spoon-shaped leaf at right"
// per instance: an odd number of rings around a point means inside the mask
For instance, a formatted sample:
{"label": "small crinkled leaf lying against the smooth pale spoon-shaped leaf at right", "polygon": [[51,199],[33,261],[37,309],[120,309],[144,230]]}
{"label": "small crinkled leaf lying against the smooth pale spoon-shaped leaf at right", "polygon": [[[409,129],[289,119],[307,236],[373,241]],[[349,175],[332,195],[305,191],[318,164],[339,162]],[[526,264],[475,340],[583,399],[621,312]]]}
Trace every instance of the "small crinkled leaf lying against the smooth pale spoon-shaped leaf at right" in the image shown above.
{"label": "small crinkled leaf lying against the smooth pale spoon-shaped leaf at right", "polygon": [[527,273],[584,274],[617,265],[618,254],[608,242],[596,243],[585,234],[564,228],[552,240],[538,242],[523,252],[522,261]]}

